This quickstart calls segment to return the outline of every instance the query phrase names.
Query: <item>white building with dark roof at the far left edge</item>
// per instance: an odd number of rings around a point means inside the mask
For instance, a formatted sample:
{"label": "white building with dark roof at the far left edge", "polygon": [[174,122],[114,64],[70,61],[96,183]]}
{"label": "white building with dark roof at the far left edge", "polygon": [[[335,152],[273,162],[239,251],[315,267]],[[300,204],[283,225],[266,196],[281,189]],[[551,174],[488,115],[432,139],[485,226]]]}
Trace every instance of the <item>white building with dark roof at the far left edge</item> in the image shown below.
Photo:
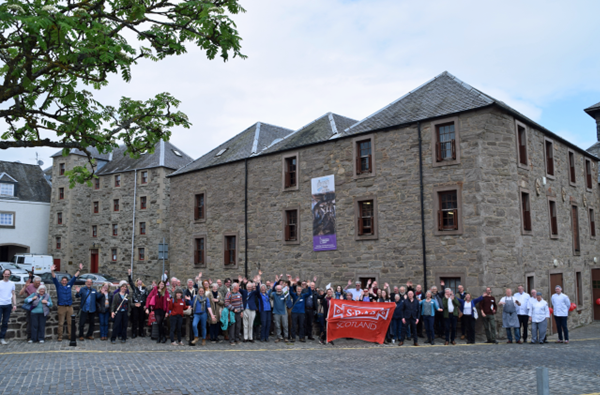
{"label": "white building with dark roof at the far left edge", "polygon": [[0,262],[46,253],[50,190],[39,166],[0,161]]}

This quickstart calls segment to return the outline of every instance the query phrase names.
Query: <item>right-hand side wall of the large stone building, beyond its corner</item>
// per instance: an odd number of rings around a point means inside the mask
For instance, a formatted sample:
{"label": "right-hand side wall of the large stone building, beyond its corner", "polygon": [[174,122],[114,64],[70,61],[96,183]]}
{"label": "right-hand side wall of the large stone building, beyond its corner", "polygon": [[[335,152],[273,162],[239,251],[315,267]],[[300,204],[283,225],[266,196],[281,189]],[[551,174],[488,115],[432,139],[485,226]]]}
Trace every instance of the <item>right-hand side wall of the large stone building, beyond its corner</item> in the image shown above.
{"label": "right-hand side wall of the large stone building, beyond its corner", "polygon": [[[495,284],[495,292],[501,288],[523,284],[526,277],[534,277],[534,287],[543,292],[546,300],[554,290],[550,289],[550,274],[563,275],[564,292],[577,303],[576,273],[581,273],[583,304],[570,314],[572,326],[593,320],[591,269],[600,268],[594,258],[600,258],[598,241],[592,238],[588,208],[593,208],[598,223],[599,188],[598,164],[592,162],[593,189],[588,192],[584,181],[584,157],[575,152],[577,185],[569,184],[568,147],[558,140],[554,143],[555,177],[547,178],[542,131],[529,127],[527,169],[517,166],[515,120],[511,116],[494,111],[482,134],[481,182],[478,199],[484,223],[481,227],[483,246],[478,253],[484,267],[484,284]],[[539,185],[536,188],[536,180]],[[532,232],[521,232],[519,193],[530,192]],[[563,190],[565,191],[563,198]],[[558,238],[550,238],[548,197],[556,198]],[[584,202],[585,197],[585,202]],[[581,254],[574,255],[571,222],[571,204],[579,207]],[[596,230],[597,231],[597,230]],[[555,265],[555,260],[556,265]]]}

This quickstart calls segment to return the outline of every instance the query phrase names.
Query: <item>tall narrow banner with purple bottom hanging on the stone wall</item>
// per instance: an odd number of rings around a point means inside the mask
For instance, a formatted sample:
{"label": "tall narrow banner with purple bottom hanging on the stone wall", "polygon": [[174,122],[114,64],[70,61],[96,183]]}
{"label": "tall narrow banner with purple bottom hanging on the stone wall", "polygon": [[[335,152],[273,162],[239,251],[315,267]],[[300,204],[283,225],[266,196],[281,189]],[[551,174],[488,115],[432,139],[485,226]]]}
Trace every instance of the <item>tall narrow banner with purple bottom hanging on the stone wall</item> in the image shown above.
{"label": "tall narrow banner with purple bottom hanging on the stone wall", "polygon": [[337,249],[335,233],[335,177],[325,176],[311,180],[313,215],[313,251]]}

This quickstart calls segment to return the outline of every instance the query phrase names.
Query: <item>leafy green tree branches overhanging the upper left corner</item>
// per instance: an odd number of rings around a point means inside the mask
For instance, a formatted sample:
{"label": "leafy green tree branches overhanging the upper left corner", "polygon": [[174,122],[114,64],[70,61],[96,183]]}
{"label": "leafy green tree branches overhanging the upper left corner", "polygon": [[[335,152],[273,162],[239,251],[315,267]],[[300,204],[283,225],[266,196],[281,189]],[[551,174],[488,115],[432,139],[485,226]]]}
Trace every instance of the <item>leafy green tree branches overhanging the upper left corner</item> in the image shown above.
{"label": "leafy green tree branches overhanging the upper left corner", "polygon": [[238,0],[7,0],[0,5],[0,119],[6,124],[0,149],[82,150],[92,166],[71,170],[71,185],[94,176],[89,147],[108,153],[123,141],[133,157],[152,152],[172,127],[190,127],[177,111],[180,102],[161,93],[122,97],[112,106],[95,100],[92,90],[105,87],[111,74],[130,81],[139,59],[181,55],[186,44],[208,59],[245,58],[231,19],[241,12]]}

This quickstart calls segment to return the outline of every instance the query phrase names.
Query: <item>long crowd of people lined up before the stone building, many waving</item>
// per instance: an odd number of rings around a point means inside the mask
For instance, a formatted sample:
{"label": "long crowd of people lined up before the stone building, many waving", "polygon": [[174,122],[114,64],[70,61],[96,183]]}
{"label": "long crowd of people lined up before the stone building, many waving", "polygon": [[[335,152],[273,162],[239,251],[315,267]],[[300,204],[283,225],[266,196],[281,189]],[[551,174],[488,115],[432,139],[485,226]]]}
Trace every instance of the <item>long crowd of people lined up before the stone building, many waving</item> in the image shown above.
{"label": "long crowd of people lined up before the stone building, many waving", "polygon": [[[127,281],[119,283],[116,290],[110,283],[93,286],[87,280],[82,287],[74,283],[83,269],[68,280],[56,279],[52,268],[52,278],[57,294],[58,330],[57,340],[63,340],[63,326],[67,323],[67,336],[71,338],[71,316],[73,315],[73,291],[80,300],[78,311],[78,338],[94,340],[96,316],[100,329],[100,340],[116,343],[127,341],[128,326],[131,321],[131,336],[136,338],[148,336],[158,343],[170,340],[174,346],[184,345],[185,333],[188,344],[206,345],[207,338],[213,343],[226,341],[237,345],[242,342],[254,343],[255,340],[269,342],[305,342],[318,340],[327,344],[327,316],[331,300],[345,299],[362,303],[389,302],[395,303],[395,309],[386,343],[403,345],[405,341],[413,341],[419,345],[419,338],[426,343],[435,344],[441,338],[445,345],[456,344],[457,327],[460,321],[461,340],[468,344],[475,343],[475,322],[481,315],[487,343],[497,344],[496,314],[498,307],[502,309],[502,327],[506,329],[508,343],[527,343],[528,326],[531,324],[531,343],[546,341],[548,321],[552,314],[556,322],[558,343],[569,343],[567,318],[573,309],[567,295],[557,286],[552,295],[552,306],[544,300],[536,290],[531,294],[524,291],[523,286],[506,289],[500,301],[492,295],[491,288],[486,288],[483,295],[473,297],[462,285],[457,292],[446,288],[443,281],[440,288],[432,286],[423,290],[420,284],[413,287],[408,281],[406,286],[394,286],[390,289],[385,283],[382,288],[376,281],[367,282],[362,287],[360,281],[351,280],[342,288],[335,289],[330,285],[325,289],[316,286],[317,277],[312,281],[293,279],[291,275],[274,276],[274,281],[262,282],[262,272],[252,280],[239,276],[237,279],[225,280],[202,279],[199,273],[195,279],[188,279],[185,284],[168,276],[146,286],[137,278],[135,281],[128,273]],[[9,281],[10,270],[3,272],[0,281],[0,343],[6,344],[5,334],[10,313],[16,310],[16,293],[14,283]],[[30,281],[20,290],[26,297],[22,306],[27,315],[27,341],[43,343],[45,340],[45,324],[50,308],[54,305],[41,279],[32,276]],[[112,323],[112,331],[110,325]],[[87,331],[84,331],[87,325]],[[85,332],[85,335],[84,335]],[[318,337],[318,339],[315,338]],[[333,345],[333,342],[329,342]]]}

